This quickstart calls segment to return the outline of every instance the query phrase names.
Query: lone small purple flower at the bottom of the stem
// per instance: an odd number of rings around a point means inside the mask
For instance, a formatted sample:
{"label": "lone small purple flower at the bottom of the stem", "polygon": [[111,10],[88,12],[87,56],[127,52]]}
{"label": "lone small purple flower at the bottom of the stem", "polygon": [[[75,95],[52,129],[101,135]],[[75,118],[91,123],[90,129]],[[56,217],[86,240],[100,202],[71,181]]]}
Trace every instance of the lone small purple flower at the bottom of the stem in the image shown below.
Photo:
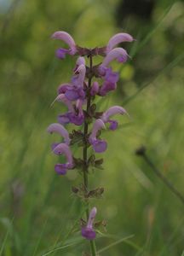
{"label": "lone small purple flower at the bottom of the stem", "polygon": [[89,220],[87,225],[82,227],[81,229],[82,236],[88,240],[94,240],[96,236],[95,230],[93,229],[93,223],[94,223],[96,212],[97,212],[96,207],[93,207],[89,213]]}

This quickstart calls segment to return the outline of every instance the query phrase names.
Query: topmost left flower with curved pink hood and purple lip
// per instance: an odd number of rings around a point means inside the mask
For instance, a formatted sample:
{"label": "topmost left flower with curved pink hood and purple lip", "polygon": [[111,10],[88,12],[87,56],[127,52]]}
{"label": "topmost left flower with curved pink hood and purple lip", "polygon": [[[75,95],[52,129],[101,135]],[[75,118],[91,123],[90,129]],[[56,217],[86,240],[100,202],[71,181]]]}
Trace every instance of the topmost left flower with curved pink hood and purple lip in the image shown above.
{"label": "topmost left flower with curved pink hood and purple lip", "polygon": [[64,31],[55,32],[51,36],[51,38],[62,40],[69,46],[69,49],[60,48],[60,49],[56,50],[56,56],[58,58],[64,59],[66,54],[68,54],[68,55],[76,54],[77,48],[76,48],[75,41],[73,40],[71,35],[69,35],[67,32],[64,32]]}

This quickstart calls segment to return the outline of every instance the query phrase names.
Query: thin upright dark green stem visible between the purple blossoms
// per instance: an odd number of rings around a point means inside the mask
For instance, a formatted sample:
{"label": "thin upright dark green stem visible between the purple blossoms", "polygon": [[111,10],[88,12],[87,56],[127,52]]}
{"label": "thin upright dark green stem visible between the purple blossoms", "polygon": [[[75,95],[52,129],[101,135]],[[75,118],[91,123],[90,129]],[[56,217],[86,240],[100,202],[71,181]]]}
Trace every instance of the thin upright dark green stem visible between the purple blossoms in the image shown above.
{"label": "thin upright dark green stem visible between the purple blossoms", "polygon": [[[89,55],[89,68],[92,71],[93,67],[93,61],[92,61],[92,55]],[[88,83],[88,89],[90,90],[91,87],[91,80],[92,76],[89,76],[89,83]],[[89,108],[91,104],[91,97],[90,97],[90,91],[88,90],[87,92],[87,108],[86,112],[89,113]],[[88,181],[88,171],[89,171],[89,166],[88,166],[88,142],[87,142],[87,136],[88,136],[88,131],[89,131],[89,125],[87,120],[85,119],[84,121],[84,128],[83,128],[83,137],[85,141],[85,145],[83,147],[83,183],[86,189],[88,189],[89,186],[89,181]],[[87,209],[86,209],[86,218],[88,221],[89,218],[89,201],[87,201]],[[90,240],[90,250],[91,250],[91,255],[96,256],[96,247],[95,247],[95,240]]]}

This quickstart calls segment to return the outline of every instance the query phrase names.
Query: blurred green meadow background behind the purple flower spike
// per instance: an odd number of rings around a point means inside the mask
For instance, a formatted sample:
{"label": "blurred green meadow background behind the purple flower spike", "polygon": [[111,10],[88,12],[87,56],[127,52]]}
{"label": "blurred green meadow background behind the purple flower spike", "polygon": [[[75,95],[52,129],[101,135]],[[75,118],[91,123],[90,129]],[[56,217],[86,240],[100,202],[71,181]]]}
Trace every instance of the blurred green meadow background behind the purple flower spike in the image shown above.
{"label": "blurred green meadow background behind the purple flower spike", "polygon": [[71,192],[82,177],[76,171],[55,175],[54,137],[46,132],[64,111],[60,104],[49,106],[76,61],[55,58],[62,43],[50,35],[64,30],[86,47],[103,46],[116,32],[137,39],[123,44],[132,58],[113,63],[118,89],[99,105],[121,105],[131,117],[118,118],[118,131],[104,132],[104,170],[89,175],[91,189],[105,188],[103,198],[91,202],[97,219],[107,220],[96,240],[100,255],[181,256],[184,206],[135,148],[146,145],[184,195],[184,2],[0,0],[0,20],[0,255],[89,252],[78,232],[82,205]]}

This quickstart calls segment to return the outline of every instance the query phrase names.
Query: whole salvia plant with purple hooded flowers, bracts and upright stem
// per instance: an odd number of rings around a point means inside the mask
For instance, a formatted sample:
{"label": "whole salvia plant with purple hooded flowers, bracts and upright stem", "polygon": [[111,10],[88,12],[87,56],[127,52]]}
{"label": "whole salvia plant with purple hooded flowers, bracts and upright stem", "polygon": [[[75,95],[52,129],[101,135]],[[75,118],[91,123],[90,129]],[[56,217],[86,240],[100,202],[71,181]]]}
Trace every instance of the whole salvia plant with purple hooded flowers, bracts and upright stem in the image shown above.
{"label": "whole salvia plant with purple hooded flowers, bracts and upright stem", "polygon": [[[67,108],[66,113],[60,113],[57,123],[48,127],[49,133],[58,133],[61,143],[52,144],[52,152],[64,155],[66,162],[55,164],[55,172],[58,175],[66,175],[76,169],[83,175],[83,181],[78,187],[72,187],[72,192],[82,198],[85,203],[86,219],[81,219],[81,235],[89,240],[91,254],[96,255],[95,227],[105,225],[104,221],[95,222],[96,207],[90,207],[91,198],[99,198],[104,192],[103,188],[89,190],[90,169],[101,169],[103,159],[96,159],[96,154],[106,151],[107,143],[101,137],[103,129],[115,131],[118,122],[113,119],[116,114],[127,113],[120,106],[112,106],[104,112],[99,112],[95,101],[97,97],[105,97],[111,91],[116,90],[119,75],[112,71],[112,61],[124,63],[129,55],[123,48],[116,47],[122,42],[132,42],[128,33],[115,34],[105,47],[88,49],[78,46],[72,36],[67,32],[59,31],[52,35],[68,45],[67,49],[57,49],[56,56],[64,59],[66,55],[76,56],[72,79],[69,83],[60,84],[57,90],[55,102],[61,102]],[[102,56],[101,63],[94,65],[93,58]],[[85,59],[86,57],[86,59]],[[86,60],[89,63],[86,63]],[[67,131],[67,124],[75,125],[72,132]],[[77,158],[72,154],[72,146],[77,144],[83,148],[83,155]],[[89,148],[92,148],[89,154]]]}

